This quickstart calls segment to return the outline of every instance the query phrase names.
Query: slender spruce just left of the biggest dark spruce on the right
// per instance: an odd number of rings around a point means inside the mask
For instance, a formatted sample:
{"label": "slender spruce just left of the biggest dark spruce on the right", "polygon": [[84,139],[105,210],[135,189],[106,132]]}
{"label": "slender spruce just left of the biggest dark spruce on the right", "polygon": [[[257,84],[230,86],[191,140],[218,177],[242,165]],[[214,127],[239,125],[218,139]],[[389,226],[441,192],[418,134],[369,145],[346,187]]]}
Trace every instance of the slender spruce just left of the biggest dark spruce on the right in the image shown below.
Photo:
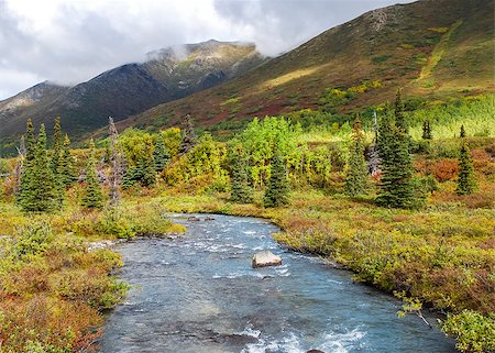
{"label": "slender spruce just left of the biggest dark spruce on the right", "polygon": [[345,194],[352,197],[363,195],[367,188],[367,166],[364,158],[364,134],[361,121],[355,120],[352,130],[352,144],[349,151],[349,164],[345,177]]}

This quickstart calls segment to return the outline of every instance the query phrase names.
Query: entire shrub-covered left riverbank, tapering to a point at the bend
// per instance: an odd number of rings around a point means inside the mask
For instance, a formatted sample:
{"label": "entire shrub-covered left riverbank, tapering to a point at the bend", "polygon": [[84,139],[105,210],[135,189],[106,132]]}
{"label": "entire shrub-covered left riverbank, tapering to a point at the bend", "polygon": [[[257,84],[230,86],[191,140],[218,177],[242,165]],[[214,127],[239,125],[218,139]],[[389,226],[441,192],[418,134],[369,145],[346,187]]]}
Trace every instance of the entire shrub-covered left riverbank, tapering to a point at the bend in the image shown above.
{"label": "entire shrub-covered left riverbank, tapering to a point at the bend", "polygon": [[25,214],[0,202],[0,352],[86,352],[102,333],[103,313],[129,286],[110,244],[138,235],[177,234],[184,227],[153,202],[118,210]]}

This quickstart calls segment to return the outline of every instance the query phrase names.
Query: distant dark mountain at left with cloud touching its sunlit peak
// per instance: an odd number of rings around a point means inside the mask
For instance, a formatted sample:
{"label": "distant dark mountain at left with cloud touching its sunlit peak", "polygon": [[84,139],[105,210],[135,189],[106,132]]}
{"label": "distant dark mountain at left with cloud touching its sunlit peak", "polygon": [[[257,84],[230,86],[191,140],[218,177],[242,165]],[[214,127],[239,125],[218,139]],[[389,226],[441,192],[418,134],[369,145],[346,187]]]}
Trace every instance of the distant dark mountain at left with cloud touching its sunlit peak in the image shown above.
{"label": "distant dark mountain at left with cloud touching its sunlit peak", "polygon": [[211,40],[148,53],[144,63],[119,66],[74,87],[43,82],[0,101],[0,145],[12,150],[28,118],[51,125],[59,115],[64,131],[77,139],[107,124],[108,117],[119,121],[213,87],[265,59],[254,44]]}

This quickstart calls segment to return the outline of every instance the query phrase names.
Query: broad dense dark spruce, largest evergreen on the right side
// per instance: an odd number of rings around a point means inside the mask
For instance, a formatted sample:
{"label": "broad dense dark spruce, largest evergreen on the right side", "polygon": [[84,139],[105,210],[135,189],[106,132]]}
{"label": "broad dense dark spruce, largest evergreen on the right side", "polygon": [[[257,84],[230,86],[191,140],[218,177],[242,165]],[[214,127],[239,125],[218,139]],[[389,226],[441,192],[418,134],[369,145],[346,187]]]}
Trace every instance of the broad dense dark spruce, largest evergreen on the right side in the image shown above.
{"label": "broad dense dark spruce, largest evergreen on the right side", "polygon": [[416,208],[422,199],[415,190],[409,136],[385,118],[381,125],[382,177],[376,203],[383,207]]}

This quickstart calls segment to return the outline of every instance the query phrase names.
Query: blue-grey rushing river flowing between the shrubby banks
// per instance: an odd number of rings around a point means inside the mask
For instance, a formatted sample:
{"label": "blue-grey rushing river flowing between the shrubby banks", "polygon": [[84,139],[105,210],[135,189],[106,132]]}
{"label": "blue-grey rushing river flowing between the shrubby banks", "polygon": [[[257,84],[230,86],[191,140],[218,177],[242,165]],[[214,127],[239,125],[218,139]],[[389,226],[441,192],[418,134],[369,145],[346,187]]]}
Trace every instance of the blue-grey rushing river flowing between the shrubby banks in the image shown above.
{"label": "blue-grey rushing river flowing between the shrubby banks", "polygon": [[[176,220],[176,240],[142,239],[117,246],[133,285],[108,318],[100,346],[113,352],[451,353],[454,343],[400,302],[318,257],[282,249],[260,219],[197,214]],[[256,251],[283,258],[251,268]],[[436,319],[430,317],[430,322]]]}

